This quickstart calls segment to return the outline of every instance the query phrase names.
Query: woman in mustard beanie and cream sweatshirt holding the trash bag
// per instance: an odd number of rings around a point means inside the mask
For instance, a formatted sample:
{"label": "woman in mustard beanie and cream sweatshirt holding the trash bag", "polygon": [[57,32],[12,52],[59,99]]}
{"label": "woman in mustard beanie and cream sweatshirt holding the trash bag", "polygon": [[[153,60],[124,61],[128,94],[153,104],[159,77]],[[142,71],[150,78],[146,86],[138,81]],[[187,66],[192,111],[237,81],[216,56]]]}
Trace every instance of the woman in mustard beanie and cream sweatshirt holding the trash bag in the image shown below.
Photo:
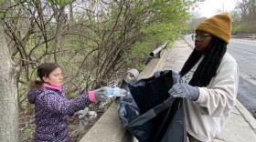
{"label": "woman in mustard beanie and cream sweatshirt holding the trash bag", "polygon": [[180,72],[184,83],[169,90],[171,96],[187,98],[184,112],[190,142],[211,141],[235,106],[239,72],[235,59],[226,53],[230,35],[228,13],[202,21],[195,49]]}

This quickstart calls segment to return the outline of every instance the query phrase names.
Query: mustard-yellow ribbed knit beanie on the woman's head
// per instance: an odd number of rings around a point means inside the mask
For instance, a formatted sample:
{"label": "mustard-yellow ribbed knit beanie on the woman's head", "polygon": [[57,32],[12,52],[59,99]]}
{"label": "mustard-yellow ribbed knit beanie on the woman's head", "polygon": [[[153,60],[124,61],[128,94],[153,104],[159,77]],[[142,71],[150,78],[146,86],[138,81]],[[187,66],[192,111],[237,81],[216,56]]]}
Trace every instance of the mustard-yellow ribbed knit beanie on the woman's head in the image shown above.
{"label": "mustard-yellow ribbed knit beanie on the woman's head", "polygon": [[197,26],[196,31],[215,35],[229,44],[231,28],[231,18],[229,13],[226,12],[205,19]]}

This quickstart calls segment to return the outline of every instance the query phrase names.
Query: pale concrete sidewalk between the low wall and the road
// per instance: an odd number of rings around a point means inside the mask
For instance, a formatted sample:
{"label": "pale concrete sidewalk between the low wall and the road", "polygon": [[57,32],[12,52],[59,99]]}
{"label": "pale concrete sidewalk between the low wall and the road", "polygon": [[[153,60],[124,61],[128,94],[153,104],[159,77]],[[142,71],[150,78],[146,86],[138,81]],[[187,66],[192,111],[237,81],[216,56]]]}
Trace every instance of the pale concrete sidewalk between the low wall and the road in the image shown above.
{"label": "pale concrete sidewalk between the low wall and the road", "polygon": [[[183,40],[177,40],[174,47],[168,49],[167,56],[159,65],[159,69],[180,71],[192,48]],[[226,125],[213,142],[255,142],[256,119],[237,100]]]}

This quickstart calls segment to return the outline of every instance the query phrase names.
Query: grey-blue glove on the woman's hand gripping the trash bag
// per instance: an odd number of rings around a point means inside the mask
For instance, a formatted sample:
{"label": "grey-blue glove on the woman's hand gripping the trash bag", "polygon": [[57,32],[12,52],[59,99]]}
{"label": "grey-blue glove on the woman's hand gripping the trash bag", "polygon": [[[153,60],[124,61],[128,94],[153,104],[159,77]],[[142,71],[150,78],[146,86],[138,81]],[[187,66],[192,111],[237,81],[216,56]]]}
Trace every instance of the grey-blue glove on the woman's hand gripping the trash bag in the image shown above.
{"label": "grey-blue glove on the woman's hand gripping the trash bag", "polygon": [[196,101],[199,96],[199,89],[197,86],[190,86],[186,83],[175,84],[168,93],[174,97],[186,97]]}

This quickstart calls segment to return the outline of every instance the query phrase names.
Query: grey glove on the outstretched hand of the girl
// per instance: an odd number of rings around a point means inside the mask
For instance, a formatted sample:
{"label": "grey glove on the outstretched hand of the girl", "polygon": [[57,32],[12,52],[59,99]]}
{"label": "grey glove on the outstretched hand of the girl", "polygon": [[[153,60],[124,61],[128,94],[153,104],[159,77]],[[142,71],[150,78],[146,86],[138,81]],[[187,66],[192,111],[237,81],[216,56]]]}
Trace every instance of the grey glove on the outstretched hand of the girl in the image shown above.
{"label": "grey glove on the outstretched hand of the girl", "polygon": [[94,96],[97,101],[105,102],[108,98],[108,92],[111,90],[111,87],[102,86],[99,89],[94,90]]}

